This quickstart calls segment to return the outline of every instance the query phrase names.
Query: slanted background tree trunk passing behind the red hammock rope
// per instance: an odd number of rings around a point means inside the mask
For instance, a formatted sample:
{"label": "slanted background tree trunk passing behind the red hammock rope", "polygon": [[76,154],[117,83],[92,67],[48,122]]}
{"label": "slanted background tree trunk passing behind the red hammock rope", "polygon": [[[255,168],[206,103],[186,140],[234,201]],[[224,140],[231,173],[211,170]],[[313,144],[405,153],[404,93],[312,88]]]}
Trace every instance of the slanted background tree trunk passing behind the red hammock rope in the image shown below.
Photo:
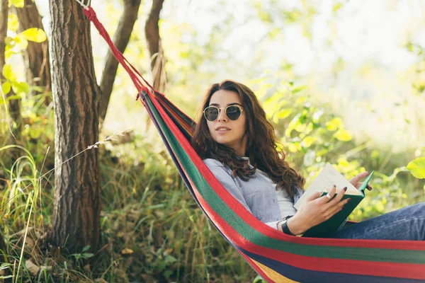
{"label": "slanted background tree trunk passing behind the red hammock rope", "polygon": [[[130,35],[134,28],[137,20],[137,13],[139,11],[141,0],[125,0],[124,1],[124,12],[118,23],[118,28],[115,31],[113,42],[115,46],[124,53],[125,48],[130,40]],[[105,67],[103,68],[101,77],[101,111],[100,120],[101,123],[105,120],[106,111],[108,110],[109,100],[111,98],[113,83],[115,81],[115,75],[117,74],[118,61],[113,57],[111,50],[108,50],[106,54]]]}

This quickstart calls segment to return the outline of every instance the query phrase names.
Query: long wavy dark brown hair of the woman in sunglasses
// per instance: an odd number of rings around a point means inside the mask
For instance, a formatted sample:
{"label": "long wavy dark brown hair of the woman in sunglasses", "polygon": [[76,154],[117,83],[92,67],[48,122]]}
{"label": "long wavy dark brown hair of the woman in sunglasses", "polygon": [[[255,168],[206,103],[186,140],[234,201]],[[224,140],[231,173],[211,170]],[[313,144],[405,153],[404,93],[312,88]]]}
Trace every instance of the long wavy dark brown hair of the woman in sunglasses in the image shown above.
{"label": "long wavy dark brown hair of the woman in sunglasses", "polygon": [[[220,90],[233,91],[239,95],[246,113],[246,152],[245,156],[254,168],[249,168],[248,161],[239,158],[234,149],[224,144],[219,144],[211,137],[207,121],[201,114],[210,105],[211,96]],[[192,146],[200,158],[214,158],[223,165],[232,169],[232,175],[237,175],[242,180],[249,180],[259,168],[276,183],[276,190],[286,190],[293,196],[295,187],[303,189],[305,179],[288,161],[285,161],[285,152],[278,149],[278,141],[274,127],[266,118],[266,112],[261,107],[259,100],[251,89],[235,81],[222,81],[214,83],[205,93],[205,100],[200,108],[200,117],[192,137]]]}

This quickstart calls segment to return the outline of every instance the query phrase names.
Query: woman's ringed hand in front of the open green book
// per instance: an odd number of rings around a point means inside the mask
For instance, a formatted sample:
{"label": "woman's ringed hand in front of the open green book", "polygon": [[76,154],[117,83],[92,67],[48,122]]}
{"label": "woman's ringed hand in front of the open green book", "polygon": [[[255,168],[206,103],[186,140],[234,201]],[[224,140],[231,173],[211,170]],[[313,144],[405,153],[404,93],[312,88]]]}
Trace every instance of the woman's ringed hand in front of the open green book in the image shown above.
{"label": "woman's ringed hand in front of the open green book", "polygon": [[304,233],[312,226],[321,224],[323,221],[331,218],[331,216],[334,216],[334,214],[344,207],[344,204],[351,200],[350,198],[347,198],[341,201],[346,189],[347,188],[344,187],[344,190],[341,190],[334,197],[336,187],[332,187],[329,191],[331,200],[329,200],[326,195],[320,197],[321,192],[315,192],[313,195],[310,195],[310,197],[307,197],[305,202],[300,205],[297,213],[288,219],[286,224],[290,231],[296,235]]}

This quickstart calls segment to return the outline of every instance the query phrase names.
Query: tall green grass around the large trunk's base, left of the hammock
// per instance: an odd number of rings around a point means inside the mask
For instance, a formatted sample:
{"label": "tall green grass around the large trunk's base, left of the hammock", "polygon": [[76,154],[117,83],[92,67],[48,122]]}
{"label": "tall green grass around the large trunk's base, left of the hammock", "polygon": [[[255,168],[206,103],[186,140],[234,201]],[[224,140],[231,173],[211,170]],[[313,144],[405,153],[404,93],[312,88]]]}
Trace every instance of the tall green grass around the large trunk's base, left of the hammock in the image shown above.
{"label": "tall green grass around the large trunk's base, left of the hammock", "polygon": [[[101,151],[102,175],[101,244],[93,256],[57,254],[49,246],[52,178],[40,175],[52,168],[53,153],[37,163],[21,146],[1,148],[1,160],[11,163],[1,167],[1,235],[9,265],[0,276],[13,282],[251,281],[254,270],[203,216],[157,146],[159,137],[144,138],[91,149]],[[129,151],[140,155],[121,155]]]}

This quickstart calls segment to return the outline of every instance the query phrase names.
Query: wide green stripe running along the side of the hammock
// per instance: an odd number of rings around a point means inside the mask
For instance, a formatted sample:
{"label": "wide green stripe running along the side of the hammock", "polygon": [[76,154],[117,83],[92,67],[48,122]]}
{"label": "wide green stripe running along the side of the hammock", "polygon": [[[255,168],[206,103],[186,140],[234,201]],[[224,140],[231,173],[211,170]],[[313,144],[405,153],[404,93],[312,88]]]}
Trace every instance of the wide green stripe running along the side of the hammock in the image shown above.
{"label": "wide green stripe running along the side of the hammock", "polygon": [[208,202],[210,207],[224,219],[227,224],[242,235],[246,240],[264,248],[281,250],[285,253],[293,253],[295,255],[305,255],[317,258],[335,258],[344,260],[365,260],[377,262],[402,262],[425,264],[425,252],[421,250],[392,250],[380,248],[352,248],[352,247],[335,247],[335,246],[314,246],[301,243],[289,243],[280,241],[268,236],[264,236],[256,229],[246,224],[234,211],[220,198],[219,195],[210,187],[198,168],[191,162],[188,154],[179,146],[179,141],[171,132],[169,127],[162,119],[159,112],[152,104],[152,101],[144,93],[149,104],[150,110],[161,127],[166,139],[169,141],[171,148],[179,158],[184,171],[189,175],[192,182],[196,184],[196,188],[203,199]]}

